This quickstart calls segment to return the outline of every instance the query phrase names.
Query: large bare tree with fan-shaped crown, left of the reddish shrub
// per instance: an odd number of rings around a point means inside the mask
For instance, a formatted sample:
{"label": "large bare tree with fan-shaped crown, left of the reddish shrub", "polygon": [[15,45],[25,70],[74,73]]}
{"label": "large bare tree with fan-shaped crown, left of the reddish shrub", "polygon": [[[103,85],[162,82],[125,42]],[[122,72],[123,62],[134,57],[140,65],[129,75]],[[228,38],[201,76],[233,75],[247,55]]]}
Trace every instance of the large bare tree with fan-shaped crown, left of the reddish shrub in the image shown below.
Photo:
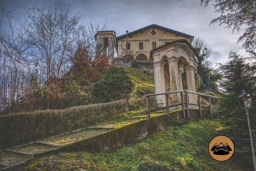
{"label": "large bare tree with fan-shaped crown, left of the reddish shrub", "polygon": [[83,15],[71,14],[71,5],[33,7],[28,32],[31,53],[46,69],[46,80],[59,78],[69,62],[68,52],[73,48],[76,32]]}

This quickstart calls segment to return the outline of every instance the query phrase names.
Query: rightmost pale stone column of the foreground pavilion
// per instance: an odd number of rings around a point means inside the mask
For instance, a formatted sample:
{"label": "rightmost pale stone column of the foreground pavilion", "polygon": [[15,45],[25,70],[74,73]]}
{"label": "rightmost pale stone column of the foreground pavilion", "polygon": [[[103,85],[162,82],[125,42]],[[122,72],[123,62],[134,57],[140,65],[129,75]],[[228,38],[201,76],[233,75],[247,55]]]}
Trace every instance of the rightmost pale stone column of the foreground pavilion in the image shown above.
{"label": "rightmost pale stone column of the foreground pavilion", "polygon": [[[187,76],[187,89],[191,92],[196,92],[196,81],[195,81],[195,67],[187,66],[184,67]],[[189,103],[197,104],[197,95],[188,94]]]}

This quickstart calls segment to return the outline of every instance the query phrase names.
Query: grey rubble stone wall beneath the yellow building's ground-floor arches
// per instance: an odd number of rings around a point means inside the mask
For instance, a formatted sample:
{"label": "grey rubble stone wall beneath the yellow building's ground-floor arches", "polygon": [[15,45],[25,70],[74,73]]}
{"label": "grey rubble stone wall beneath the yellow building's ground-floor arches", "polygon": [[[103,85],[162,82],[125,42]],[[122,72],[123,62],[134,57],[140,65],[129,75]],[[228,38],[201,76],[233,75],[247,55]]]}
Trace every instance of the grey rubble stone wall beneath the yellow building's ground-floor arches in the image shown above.
{"label": "grey rubble stone wall beneath the yellow building's ground-floor arches", "polygon": [[154,74],[153,61],[115,58],[114,65],[137,68]]}

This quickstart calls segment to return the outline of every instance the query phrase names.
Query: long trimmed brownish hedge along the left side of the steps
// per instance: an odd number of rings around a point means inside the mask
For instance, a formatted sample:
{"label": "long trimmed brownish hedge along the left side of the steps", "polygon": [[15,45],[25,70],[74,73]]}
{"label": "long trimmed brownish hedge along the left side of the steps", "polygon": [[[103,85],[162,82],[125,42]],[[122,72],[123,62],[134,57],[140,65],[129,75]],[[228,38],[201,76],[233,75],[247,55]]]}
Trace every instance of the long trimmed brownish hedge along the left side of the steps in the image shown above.
{"label": "long trimmed brownish hedge along the left side of the steps", "polygon": [[126,101],[0,116],[0,149],[80,129],[125,112]]}

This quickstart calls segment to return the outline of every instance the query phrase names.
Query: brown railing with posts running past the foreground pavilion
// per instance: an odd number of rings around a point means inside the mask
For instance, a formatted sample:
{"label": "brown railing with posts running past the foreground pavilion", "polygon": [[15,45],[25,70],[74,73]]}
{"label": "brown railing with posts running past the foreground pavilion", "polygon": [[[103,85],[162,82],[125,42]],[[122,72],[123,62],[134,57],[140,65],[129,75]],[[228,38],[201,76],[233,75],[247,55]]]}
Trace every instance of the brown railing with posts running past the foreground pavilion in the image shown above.
{"label": "brown railing with posts running past the foreground pavilion", "polygon": [[[185,95],[183,93],[185,93]],[[188,99],[188,94],[189,93],[197,95],[197,104],[189,103],[189,99]],[[180,94],[180,98],[181,98],[180,103],[177,103],[177,104],[174,104],[174,105],[169,105],[169,99],[168,99],[169,94]],[[159,95],[165,95],[165,106],[162,107],[162,108],[156,108],[156,109],[151,110],[150,109],[150,97],[159,96]],[[202,96],[205,96],[205,97],[209,98],[209,105],[201,103],[201,97]],[[170,108],[174,108],[176,106],[181,106],[183,117],[186,118],[186,114],[187,114],[187,118],[189,118],[189,105],[198,106],[199,111],[200,111],[200,117],[202,118],[202,107],[206,107],[206,108],[209,108],[210,118],[212,118],[212,108],[219,107],[219,103],[220,103],[220,101],[219,101],[220,98],[217,97],[217,96],[211,96],[211,95],[206,95],[206,94],[197,93],[197,92],[191,92],[191,91],[187,91],[187,90],[180,90],[180,91],[174,91],[174,92],[165,92],[165,93],[158,93],[158,94],[147,94],[147,95],[145,95],[145,97],[146,97],[146,115],[147,115],[148,130],[150,129],[150,114],[151,114],[151,112],[156,112],[156,111],[160,111],[160,110],[165,109],[166,110],[166,116],[167,116],[167,122],[168,122],[168,124],[170,124],[170,116],[169,116],[169,109]],[[184,97],[185,97],[185,101],[184,101]],[[211,98],[216,98],[217,99],[217,106],[211,104]],[[186,108],[186,110],[185,110],[185,108]]]}

